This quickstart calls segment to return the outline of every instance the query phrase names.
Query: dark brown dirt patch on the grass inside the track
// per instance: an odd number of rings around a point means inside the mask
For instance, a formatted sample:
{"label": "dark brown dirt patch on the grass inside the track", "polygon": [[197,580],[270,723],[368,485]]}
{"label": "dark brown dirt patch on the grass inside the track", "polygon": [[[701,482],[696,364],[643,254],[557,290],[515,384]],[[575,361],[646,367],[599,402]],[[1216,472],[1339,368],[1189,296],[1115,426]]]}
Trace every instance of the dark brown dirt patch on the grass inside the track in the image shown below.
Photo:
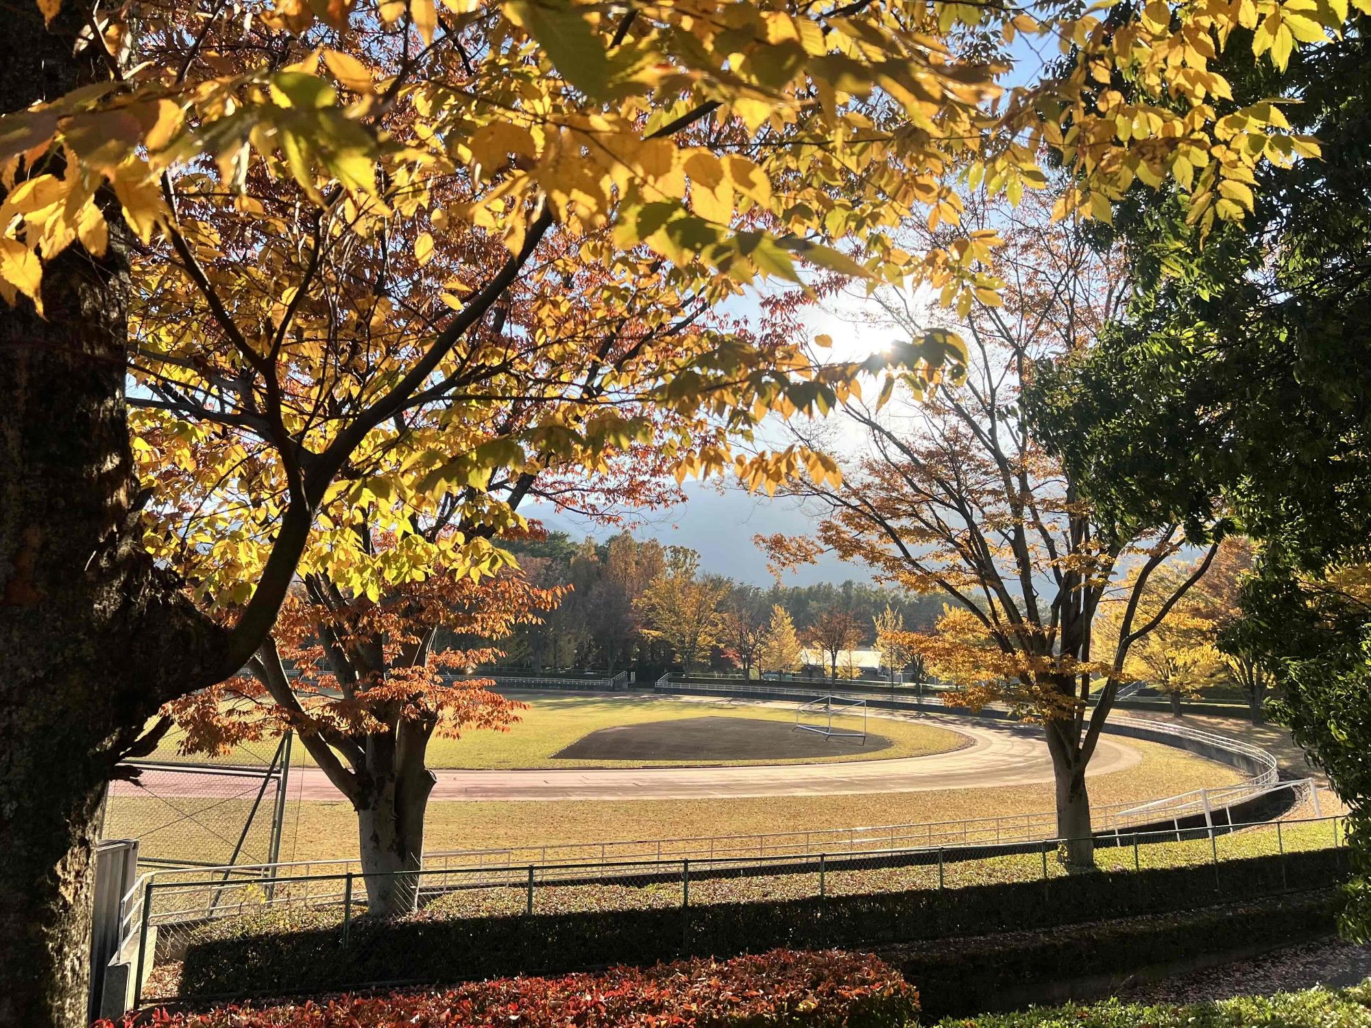
{"label": "dark brown dirt patch on the grass inside the track", "polygon": [[743,717],[692,717],[616,725],[581,736],[553,754],[562,761],[781,761],[876,752],[894,743],[882,735],[865,742],[798,731],[787,721]]}

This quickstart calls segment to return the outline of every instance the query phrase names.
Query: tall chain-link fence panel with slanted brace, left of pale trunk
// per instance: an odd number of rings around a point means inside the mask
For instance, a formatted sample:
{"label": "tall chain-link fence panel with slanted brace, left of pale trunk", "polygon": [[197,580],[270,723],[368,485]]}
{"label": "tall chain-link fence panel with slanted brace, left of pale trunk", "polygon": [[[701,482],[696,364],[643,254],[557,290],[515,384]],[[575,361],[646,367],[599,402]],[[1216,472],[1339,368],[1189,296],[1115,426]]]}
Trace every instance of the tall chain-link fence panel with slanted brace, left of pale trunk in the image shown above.
{"label": "tall chain-link fence panel with slanted brace, left of pale trunk", "polygon": [[129,761],[110,784],[100,837],[136,839],[143,869],[274,864],[289,765],[289,735],[260,763]]}

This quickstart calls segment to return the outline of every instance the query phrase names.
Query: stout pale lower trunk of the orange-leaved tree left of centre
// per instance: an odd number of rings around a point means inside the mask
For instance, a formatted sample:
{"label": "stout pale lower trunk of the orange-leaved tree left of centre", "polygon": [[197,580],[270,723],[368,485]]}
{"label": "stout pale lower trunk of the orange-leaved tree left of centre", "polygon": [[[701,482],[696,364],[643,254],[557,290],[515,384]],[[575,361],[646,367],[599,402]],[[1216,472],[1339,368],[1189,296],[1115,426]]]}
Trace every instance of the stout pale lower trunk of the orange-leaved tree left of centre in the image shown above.
{"label": "stout pale lower trunk of the orange-leaved tree left of centre", "polygon": [[403,917],[418,907],[424,816],[436,779],[429,770],[384,779],[356,803],[366,910]]}

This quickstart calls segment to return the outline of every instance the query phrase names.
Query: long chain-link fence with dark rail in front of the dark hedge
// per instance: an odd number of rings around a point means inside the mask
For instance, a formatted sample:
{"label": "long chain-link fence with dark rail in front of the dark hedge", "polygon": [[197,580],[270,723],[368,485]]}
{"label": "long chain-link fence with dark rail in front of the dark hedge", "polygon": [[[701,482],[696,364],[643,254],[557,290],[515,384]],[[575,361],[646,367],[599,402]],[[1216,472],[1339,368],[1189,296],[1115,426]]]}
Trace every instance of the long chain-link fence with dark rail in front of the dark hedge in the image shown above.
{"label": "long chain-link fence with dark rail in front of the dark hedge", "polygon": [[[289,994],[1205,906],[1333,884],[1342,831],[1323,817],[1098,836],[1090,872],[1058,858],[1060,840],[399,874],[182,869],[144,876],[123,924],[140,1002]],[[413,911],[389,916],[396,901]]]}

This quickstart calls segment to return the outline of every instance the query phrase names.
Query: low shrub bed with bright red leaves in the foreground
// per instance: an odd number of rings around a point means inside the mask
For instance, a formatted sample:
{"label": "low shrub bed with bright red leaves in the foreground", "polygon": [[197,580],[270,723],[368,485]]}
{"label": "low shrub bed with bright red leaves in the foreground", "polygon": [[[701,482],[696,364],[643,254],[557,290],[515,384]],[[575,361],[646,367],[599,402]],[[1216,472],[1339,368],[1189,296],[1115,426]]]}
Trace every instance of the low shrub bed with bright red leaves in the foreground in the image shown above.
{"label": "low shrub bed with bright red leaves in the foreground", "polygon": [[[602,975],[155,1016],[165,1028],[901,1028],[914,990],[871,955],[775,950]],[[119,1028],[133,1028],[126,1016]],[[110,1021],[96,1028],[115,1028]]]}

